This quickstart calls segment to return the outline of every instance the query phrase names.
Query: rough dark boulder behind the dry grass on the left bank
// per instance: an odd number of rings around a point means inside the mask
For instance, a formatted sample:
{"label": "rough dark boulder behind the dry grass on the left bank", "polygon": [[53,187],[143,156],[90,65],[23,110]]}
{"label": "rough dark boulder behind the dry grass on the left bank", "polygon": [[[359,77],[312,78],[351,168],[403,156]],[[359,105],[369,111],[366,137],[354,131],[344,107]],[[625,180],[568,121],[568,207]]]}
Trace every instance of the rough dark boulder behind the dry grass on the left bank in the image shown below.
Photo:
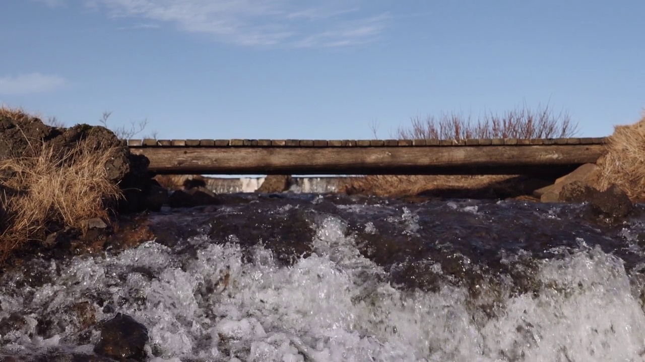
{"label": "rough dark boulder behind the dry grass on the left bank", "polygon": [[[124,198],[117,205],[119,211],[127,213],[146,209],[150,162],[146,157],[132,155],[112,131],[86,124],[54,128],[22,111],[6,108],[0,111],[0,162],[37,155],[43,144],[50,146],[52,153],[62,159],[64,155],[70,155],[70,151],[77,148],[81,141],[85,151],[105,152],[113,149],[114,156],[105,164],[105,169],[108,178],[123,190]],[[73,162],[73,159],[68,158],[67,161]]]}

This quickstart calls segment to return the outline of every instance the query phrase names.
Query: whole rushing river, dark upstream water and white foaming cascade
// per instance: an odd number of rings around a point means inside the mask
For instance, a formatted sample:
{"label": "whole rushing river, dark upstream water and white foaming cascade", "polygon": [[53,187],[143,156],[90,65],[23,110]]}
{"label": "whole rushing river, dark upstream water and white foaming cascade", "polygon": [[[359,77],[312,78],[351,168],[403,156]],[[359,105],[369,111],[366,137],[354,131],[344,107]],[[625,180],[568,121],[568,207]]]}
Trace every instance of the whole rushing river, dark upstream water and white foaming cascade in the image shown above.
{"label": "whole rushing river, dark upstream water and white foaming cascade", "polygon": [[150,361],[645,360],[642,205],[231,197],[5,272],[0,355],[91,354],[121,312]]}

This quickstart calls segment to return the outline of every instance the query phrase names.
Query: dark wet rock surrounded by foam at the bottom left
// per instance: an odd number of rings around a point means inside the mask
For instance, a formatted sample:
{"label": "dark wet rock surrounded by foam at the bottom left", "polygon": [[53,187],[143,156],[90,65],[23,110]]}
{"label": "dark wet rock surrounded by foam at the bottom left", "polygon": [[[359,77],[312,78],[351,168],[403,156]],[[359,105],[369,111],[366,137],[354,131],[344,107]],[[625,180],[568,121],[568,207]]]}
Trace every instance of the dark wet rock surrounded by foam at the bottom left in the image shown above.
{"label": "dark wet rock surrounded by foam at the bottom left", "polygon": [[148,329],[134,318],[117,313],[114,318],[103,323],[101,339],[94,347],[94,353],[119,360],[143,361],[146,358],[143,349],[146,343]]}

